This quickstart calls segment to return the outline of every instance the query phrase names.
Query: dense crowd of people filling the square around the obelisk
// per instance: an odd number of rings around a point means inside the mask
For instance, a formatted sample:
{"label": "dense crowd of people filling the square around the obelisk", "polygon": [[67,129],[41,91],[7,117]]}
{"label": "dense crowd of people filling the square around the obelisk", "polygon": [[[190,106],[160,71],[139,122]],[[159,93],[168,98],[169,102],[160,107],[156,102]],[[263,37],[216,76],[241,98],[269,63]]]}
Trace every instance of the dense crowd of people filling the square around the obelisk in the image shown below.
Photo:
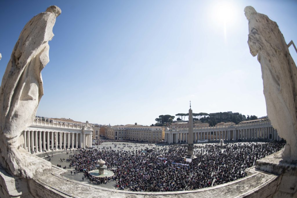
{"label": "dense crowd of people filling the square around the obelisk", "polygon": [[[78,149],[70,157],[76,171],[85,172],[91,182],[115,180],[118,189],[130,191],[182,191],[206,188],[246,176],[248,167],[257,159],[277,152],[284,142],[228,143],[226,145],[199,144],[194,146],[195,159],[185,161],[187,145],[149,145],[143,151],[139,144],[129,150],[115,150],[118,145],[102,149]],[[128,146],[123,143],[122,146]],[[106,161],[111,178],[95,178],[88,174],[96,161]],[[172,164],[178,163],[178,164]]]}

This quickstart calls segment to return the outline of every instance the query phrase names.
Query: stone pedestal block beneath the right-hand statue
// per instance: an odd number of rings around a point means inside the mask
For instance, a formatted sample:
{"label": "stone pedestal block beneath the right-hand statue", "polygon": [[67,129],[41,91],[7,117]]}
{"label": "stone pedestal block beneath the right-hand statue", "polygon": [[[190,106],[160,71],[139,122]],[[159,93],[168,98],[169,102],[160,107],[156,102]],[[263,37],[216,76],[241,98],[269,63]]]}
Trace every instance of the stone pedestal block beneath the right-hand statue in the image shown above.
{"label": "stone pedestal block beneath the right-hand statue", "polygon": [[282,150],[256,161],[256,170],[279,175],[273,197],[297,197],[297,163],[288,163],[281,158]]}

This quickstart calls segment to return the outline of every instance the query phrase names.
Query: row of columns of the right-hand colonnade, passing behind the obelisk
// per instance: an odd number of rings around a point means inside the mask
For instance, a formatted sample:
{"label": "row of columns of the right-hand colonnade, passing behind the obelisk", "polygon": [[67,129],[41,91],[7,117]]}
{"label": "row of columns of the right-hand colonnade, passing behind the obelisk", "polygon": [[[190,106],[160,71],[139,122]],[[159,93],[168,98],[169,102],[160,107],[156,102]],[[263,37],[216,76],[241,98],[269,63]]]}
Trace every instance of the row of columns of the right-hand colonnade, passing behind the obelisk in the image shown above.
{"label": "row of columns of the right-hand colonnade, passing behind the obelisk", "polygon": [[[252,128],[235,128],[226,127],[215,128],[213,130],[194,129],[194,143],[205,142],[205,140],[259,140],[269,139],[279,141],[277,130],[272,126],[253,126]],[[170,130],[165,131],[165,142],[178,143],[188,142],[188,131],[187,130]]]}

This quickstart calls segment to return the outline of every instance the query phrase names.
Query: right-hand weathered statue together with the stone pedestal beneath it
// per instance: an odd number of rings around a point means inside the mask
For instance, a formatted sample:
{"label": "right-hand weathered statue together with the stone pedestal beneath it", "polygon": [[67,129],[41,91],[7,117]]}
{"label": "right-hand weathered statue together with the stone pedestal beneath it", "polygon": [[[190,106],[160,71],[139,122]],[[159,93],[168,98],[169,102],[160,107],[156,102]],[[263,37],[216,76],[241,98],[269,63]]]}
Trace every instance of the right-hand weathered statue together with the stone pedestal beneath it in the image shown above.
{"label": "right-hand weathered statue together with the stone pedestal beneath it", "polygon": [[287,141],[282,152],[257,160],[256,169],[279,175],[274,197],[297,196],[297,68],[277,23],[247,6],[249,49],[261,64],[267,115]]}

